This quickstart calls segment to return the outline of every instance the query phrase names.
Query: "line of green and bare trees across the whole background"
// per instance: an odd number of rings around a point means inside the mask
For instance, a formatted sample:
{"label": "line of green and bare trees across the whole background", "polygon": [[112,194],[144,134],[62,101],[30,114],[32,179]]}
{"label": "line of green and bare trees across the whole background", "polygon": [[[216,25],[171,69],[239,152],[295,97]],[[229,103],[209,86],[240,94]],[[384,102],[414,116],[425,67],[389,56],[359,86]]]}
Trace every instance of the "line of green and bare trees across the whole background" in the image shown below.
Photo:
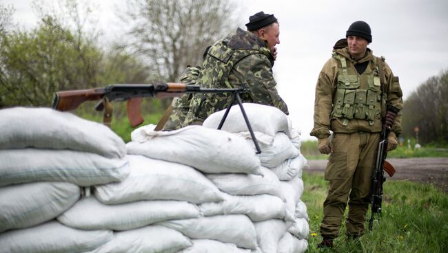
{"label": "line of green and bare trees across the whole background", "polygon": [[[101,31],[87,28],[95,27],[92,1],[59,1],[58,11],[50,2],[34,1],[39,23],[30,30],[19,28],[14,9],[0,3],[0,109],[50,107],[61,90],[176,82],[239,19],[229,16],[232,1],[128,0],[120,10],[126,39],[105,47]],[[415,136],[418,127],[420,142],[448,143],[447,97],[448,70],[422,83],[404,102],[403,136]],[[156,107],[159,101],[147,101],[143,111],[161,111],[169,102]]]}

